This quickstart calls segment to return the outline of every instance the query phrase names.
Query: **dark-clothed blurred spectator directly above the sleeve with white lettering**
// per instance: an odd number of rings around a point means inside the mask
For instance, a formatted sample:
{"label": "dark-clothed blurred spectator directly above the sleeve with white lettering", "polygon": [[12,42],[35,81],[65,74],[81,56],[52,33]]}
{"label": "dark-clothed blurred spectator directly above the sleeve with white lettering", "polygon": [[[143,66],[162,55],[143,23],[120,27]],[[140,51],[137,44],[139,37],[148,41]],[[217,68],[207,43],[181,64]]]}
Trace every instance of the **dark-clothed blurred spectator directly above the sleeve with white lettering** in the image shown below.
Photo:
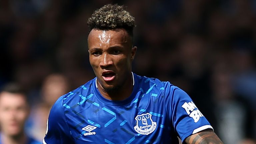
{"label": "dark-clothed blurred spectator directly above the sleeve with white lettering", "polygon": [[189,34],[185,35],[176,50],[177,58],[181,57],[174,65],[170,77],[173,84],[184,89],[193,99],[197,107],[215,127],[213,113],[213,98],[210,89],[210,54],[209,48],[203,37]]}

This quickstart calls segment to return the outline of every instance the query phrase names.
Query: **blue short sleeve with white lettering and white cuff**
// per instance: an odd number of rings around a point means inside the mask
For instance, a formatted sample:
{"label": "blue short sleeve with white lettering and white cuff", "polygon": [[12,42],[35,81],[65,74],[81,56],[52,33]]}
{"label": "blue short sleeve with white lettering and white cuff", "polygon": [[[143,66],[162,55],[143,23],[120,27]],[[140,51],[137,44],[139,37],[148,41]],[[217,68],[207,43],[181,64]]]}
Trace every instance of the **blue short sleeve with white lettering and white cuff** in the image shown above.
{"label": "blue short sleeve with white lettering and white cuff", "polygon": [[186,92],[176,86],[169,86],[169,90],[166,100],[169,119],[182,141],[202,130],[213,129]]}

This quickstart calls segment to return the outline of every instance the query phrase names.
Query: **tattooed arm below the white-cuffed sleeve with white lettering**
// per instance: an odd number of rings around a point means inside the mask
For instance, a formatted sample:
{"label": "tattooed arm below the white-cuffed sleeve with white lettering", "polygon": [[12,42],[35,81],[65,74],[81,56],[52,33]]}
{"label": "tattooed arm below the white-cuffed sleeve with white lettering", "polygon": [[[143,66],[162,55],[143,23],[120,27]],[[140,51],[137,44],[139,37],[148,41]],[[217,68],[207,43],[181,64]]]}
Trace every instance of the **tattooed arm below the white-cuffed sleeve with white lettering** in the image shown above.
{"label": "tattooed arm below the white-cuffed sleeve with white lettering", "polygon": [[204,130],[186,139],[187,144],[223,144],[212,130]]}

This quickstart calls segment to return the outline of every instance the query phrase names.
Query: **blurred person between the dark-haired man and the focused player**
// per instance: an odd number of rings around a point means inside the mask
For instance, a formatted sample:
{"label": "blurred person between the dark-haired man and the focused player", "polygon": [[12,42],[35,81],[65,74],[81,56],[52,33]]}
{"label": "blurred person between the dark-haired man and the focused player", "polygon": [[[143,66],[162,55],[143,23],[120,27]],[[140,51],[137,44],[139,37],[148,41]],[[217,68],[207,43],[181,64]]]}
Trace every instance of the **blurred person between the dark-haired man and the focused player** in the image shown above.
{"label": "blurred person between the dark-haired man and the focused player", "polygon": [[46,122],[50,109],[54,102],[69,90],[68,80],[62,74],[51,74],[43,82],[41,90],[41,102],[31,111],[28,124],[29,132],[37,140],[45,136]]}

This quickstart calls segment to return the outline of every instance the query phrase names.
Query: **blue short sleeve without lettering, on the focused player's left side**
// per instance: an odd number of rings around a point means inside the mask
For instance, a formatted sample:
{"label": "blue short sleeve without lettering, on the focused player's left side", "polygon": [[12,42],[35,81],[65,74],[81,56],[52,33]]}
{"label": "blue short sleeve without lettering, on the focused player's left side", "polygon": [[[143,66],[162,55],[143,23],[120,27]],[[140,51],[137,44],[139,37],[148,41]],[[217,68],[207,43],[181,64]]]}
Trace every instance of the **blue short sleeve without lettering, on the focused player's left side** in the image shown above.
{"label": "blue short sleeve without lettering, on the focused player's left side", "polygon": [[43,144],[70,144],[71,134],[63,112],[63,96],[53,105],[48,120]]}

